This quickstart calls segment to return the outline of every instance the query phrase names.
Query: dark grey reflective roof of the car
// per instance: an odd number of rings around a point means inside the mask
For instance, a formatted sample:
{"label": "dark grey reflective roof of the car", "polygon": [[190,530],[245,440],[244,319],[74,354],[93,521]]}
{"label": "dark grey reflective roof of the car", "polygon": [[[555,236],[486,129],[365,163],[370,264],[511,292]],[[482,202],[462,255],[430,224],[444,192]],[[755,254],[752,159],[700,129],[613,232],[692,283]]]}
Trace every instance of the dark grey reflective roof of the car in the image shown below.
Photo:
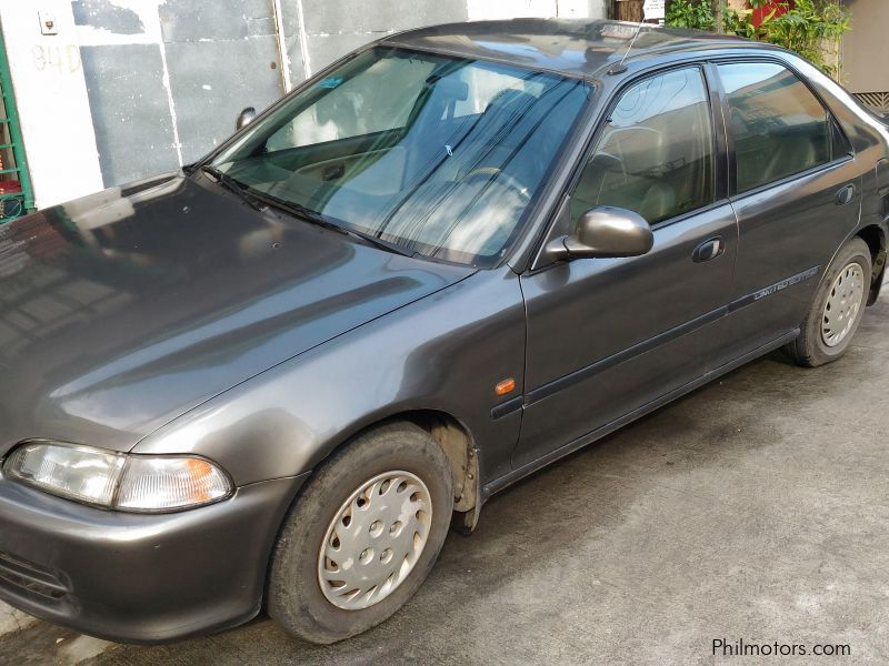
{"label": "dark grey reflective roof of the car", "polygon": [[[638,23],[581,19],[469,21],[399,32],[381,43],[591,77],[623,58],[638,29]],[[739,47],[762,44],[726,34],[643,24],[628,60]]]}

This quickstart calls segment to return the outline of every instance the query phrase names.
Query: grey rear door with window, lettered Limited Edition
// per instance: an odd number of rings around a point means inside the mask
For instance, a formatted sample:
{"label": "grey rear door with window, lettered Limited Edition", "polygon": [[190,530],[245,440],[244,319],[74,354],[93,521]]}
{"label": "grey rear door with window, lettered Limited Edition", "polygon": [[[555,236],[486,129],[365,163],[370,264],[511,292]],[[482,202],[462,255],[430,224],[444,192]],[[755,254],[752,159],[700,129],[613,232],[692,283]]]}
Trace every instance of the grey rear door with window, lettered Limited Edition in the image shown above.
{"label": "grey rear door with window, lettered Limited Edition", "polygon": [[831,258],[858,224],[861,180],[839,124],[793,71],[763,60],[713,69],[740,233],[719,364],[800,325]]}

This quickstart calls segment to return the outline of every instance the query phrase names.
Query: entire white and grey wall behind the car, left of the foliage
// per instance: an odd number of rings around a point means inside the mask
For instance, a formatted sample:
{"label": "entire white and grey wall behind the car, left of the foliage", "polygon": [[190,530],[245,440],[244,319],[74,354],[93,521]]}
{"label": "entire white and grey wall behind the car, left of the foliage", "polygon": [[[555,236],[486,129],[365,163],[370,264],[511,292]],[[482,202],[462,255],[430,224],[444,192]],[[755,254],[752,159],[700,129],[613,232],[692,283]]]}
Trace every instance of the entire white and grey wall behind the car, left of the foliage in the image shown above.
{"label": "entire white and grey wall behind the car, left of the foliage", "polygon": [[[47,14],[58,34],[41,34]],[[382,36],[605,14],[606,0],[0,0],[39,208],[200,158],[243,107]]]}

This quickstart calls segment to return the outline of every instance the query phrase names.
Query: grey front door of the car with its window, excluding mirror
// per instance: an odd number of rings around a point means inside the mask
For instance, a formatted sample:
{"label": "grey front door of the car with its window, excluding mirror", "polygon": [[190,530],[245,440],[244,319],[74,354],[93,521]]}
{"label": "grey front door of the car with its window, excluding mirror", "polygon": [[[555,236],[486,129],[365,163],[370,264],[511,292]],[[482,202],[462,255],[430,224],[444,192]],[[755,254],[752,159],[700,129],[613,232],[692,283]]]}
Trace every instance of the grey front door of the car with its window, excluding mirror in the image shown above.
{"label": "grey front door of the car with its window, excluding mirror", "polygon": [[699,67],[630,84],[569,191],[569,233],[597,205],[652,225],[643,256],[580,259],[522,275],[525,416],[513,466],[558,455],[705,374],[725,314],[737,223]]}

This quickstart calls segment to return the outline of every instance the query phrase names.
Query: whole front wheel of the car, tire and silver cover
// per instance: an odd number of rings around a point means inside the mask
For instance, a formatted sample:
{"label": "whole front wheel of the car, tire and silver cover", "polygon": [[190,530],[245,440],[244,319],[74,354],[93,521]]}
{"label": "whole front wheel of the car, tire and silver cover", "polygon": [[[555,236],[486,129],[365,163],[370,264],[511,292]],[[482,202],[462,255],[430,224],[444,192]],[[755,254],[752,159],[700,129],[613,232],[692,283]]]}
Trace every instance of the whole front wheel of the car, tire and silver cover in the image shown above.
{"label": "whole front wheel of the car, tire and silver cover", "polygon": [[426,431],[397,423],[364,433],[318,471],[288,515],[269,615],[312,643],[378,625],[426,579],[452,509],[448,460]]}

